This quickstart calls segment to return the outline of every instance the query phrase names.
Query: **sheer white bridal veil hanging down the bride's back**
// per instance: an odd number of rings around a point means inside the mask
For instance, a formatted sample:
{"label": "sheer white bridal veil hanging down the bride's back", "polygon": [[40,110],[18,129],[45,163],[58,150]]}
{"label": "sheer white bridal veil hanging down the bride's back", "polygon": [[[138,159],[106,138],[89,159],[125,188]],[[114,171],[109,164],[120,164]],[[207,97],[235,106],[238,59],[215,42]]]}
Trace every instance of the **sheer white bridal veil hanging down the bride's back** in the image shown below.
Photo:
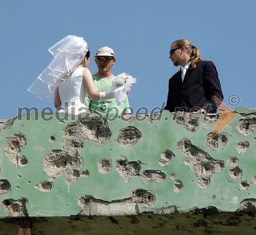
{"label": "sheer white bridal veil hanging down the bride's back", "polygon": [[54,44],[48,51],[54,56],[51,63],[37,77],[28,91],[39,99],[54,103],[55,89],[69,78],[88,52],[82,37],[69,35]]}

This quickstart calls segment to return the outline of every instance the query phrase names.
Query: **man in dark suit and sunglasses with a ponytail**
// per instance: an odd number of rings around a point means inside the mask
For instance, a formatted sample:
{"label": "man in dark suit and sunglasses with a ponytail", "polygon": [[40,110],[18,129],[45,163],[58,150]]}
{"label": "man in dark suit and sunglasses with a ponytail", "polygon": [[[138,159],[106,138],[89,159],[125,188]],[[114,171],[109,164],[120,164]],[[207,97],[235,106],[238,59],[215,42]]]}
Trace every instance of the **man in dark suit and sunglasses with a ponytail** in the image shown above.
{"label": "man in dark suit and sunglasses with a ponytail", "polygon": [[164,109],[170,112],[216,113],[215,97],[221,101],[224,97],[214,62],[202,60],[196,46],[185,39],[172,43],[169,58],[181,69],[169,79]]}

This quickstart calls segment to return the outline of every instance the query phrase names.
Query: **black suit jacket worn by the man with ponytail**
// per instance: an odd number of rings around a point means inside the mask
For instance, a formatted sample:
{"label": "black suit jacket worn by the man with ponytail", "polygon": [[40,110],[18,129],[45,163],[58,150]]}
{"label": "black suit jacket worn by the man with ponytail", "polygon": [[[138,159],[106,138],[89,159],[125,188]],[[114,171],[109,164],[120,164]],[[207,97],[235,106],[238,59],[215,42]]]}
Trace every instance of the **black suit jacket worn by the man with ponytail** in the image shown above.
{"label": "black suit jacket worn by the man with ponytail", "polygon": [[169,79],[167,103],[164,109],[170,112],[193,112],[200,108],[208,113],[217,111],[215,97],[223,100],[220,80],[214,62],[200,60],[195,69],[187,69],[182,82],[181,69]]}

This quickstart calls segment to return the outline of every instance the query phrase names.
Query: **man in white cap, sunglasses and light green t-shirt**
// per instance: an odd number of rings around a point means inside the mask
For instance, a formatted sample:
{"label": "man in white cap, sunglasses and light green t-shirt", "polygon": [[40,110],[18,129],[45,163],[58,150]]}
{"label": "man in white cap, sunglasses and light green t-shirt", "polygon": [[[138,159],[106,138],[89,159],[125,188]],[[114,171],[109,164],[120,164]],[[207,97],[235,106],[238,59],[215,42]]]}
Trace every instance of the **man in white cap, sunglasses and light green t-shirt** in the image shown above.
{"label": "man in white cap, sunglasses and light green t-shirt", "polygon": [[[93,75],[94,85],[97,91],[108,92],[111,89],[113,78],[112,66],[116,62],[114,51],[108,46],[100,48],[95,57],[95,62],[98,67],[98,72]],[[119,114],[129,115],[131,113],[128,97],[120,106],[117,105],[115,98],[110,100],[92,101],[87,97],[84,101],[89,107],[91,113],[100,112],[103,114]]]}

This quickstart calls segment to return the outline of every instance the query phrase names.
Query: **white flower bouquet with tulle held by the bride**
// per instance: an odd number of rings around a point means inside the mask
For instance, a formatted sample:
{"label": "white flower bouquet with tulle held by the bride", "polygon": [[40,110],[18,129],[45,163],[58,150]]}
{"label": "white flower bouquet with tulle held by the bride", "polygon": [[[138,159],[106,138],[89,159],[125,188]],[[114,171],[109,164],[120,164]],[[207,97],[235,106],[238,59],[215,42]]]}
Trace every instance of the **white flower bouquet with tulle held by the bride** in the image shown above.
{"label": "white flower bouquet with tulle held by the bride", "polygon": [[[129,74],[119,74],[112,80],[112,87],[111,90],[115,91],[115,98],[117,105],[121,105],[122,101],[127,96],[126,91],[130,90],[133,83],[137,81],[136,78],[133,78]],[[123,86],[122,89],[116,90],[116,88]]]}

